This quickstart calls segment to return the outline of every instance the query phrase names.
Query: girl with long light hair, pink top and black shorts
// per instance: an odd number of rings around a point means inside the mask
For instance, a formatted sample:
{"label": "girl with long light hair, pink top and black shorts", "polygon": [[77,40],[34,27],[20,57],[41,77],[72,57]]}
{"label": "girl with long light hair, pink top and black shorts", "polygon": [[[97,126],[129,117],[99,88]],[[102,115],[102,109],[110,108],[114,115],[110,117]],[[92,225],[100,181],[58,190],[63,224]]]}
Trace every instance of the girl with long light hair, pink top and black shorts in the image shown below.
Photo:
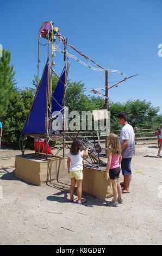
{"label": "girl with long light hair, pink top and black shorts", "polygon": [[120,174],[120,164],[122,161],[121,156],[121,145],[120,140],[117,135],[114,133],[110,133],[108,137],[108,163],[107,169],[105,173],[105,178],[108,180],[108,173],[110,176],[110,181],[113,186],[113,196],[114,200],[112,202],[108,202],[108,206],[118,206],[118,203],[122,203],[122,191],[119,181]]}

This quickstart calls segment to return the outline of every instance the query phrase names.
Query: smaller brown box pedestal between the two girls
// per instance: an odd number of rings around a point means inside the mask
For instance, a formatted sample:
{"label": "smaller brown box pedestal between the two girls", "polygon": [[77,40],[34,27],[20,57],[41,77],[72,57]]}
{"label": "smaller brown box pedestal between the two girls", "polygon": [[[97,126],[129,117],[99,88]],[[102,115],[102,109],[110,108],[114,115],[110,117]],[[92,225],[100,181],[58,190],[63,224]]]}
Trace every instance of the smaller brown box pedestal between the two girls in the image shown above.
{"label": "smaller brown box pedestal between the two girls", "polygon": [[113,188],[110,179],[104,178],[105,172],[101,172],[92,168],[83,168],[83,192],[104,200],[113,196]]}

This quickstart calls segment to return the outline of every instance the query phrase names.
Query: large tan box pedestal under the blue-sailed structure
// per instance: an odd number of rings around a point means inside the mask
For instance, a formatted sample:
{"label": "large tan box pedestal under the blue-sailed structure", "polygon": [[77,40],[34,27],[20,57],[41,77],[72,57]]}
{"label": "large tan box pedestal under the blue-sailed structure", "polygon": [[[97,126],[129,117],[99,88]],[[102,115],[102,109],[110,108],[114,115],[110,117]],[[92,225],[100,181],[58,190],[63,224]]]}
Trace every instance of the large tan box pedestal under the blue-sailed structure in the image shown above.
{"label": "large tan box pedestal under the blue-sailed structure", "polygon": [[15,157],[15,176],[32,184],[42,186],[49,180],[65,178],[65,158],[27,154]]}

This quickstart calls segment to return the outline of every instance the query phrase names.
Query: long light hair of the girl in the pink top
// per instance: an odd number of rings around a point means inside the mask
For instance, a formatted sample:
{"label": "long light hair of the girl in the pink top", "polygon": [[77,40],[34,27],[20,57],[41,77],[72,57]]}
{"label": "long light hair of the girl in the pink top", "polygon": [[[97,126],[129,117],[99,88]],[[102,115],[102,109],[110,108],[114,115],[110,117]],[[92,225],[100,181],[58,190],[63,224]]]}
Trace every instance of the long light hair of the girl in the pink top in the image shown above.
{"label": "long light hair of the girl in the pink top", "polygon": [[121,145],[119,136],[115,133],[110,133],[108,136],[108,148],[110,149],[110,152],[114,155],[120,155],[121,154]]}

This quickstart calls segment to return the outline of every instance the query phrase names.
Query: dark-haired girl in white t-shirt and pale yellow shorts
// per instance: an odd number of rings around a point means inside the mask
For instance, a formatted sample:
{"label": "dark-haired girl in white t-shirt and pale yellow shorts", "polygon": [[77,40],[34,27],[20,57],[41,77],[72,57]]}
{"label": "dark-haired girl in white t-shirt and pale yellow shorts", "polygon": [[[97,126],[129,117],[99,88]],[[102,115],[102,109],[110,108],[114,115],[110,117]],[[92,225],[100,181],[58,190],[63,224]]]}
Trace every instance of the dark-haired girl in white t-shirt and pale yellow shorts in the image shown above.
{"label": "dark-haired girl in white t-shirt and pale yellow shorts", "polygon": [[68,153],[67,170],[71,178],[70,202],[74,200],[74,187],[77,183],[77,204],[87,202],[86,199],[82,198],[83,156],[88,156],[88,149],[84,151],[82,142],[79,139],[74,139],[71,144],[70,153]]}

